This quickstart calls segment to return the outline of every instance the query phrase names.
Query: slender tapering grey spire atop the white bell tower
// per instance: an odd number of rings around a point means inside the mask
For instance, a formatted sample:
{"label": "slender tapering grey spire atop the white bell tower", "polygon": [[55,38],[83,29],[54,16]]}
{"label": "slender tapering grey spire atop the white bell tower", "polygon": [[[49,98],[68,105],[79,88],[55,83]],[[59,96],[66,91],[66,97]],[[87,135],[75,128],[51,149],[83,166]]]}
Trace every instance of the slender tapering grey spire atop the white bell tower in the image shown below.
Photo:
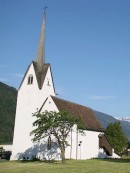
{"label": "slender tapering grey spire atop the white bell tower", "polygon": [[38,64],[39,71],[41,71],[42,66],[45,63],[45,27],[46,27],[46,6],[44,8],[44,16],[40,34],[40,40],[37,50],[36,62]]}

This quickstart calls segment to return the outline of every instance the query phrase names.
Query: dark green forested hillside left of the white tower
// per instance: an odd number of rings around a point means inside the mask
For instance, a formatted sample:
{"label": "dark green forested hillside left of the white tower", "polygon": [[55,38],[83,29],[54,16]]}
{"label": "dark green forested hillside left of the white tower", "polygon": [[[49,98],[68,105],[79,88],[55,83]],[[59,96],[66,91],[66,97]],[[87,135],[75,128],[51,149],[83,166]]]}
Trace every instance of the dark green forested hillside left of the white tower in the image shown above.
{"label": "dark green forested hillside left of the white tower", "polygon": [[0,82],[0,143],[13,140],[17,90]]}

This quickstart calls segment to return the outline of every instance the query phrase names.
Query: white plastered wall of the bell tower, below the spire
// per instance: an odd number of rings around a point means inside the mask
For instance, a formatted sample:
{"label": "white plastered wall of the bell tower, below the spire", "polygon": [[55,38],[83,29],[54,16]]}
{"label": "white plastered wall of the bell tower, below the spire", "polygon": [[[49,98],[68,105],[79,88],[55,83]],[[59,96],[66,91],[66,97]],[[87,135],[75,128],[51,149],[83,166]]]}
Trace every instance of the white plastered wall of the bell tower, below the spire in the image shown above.
{"label": "white plastered wall of the bell tower, below the spire", "polygon": [[[28,85],[27,81],[30,74],[33,75],[33,84]],[[48,80],[49,85],[47,85]],[[34,145],[31,140],[32,136],[30,136],[30,132],[33,129],[32,123],[34,122],[32,113],[42,106],[49,95],[55,95],[50,68],[47,71],[43,87],[40,90],[33,64],[31,64],[17,96],[12,160],[19,159],[20,155],[22,157],[23,153],[31,151]]]}

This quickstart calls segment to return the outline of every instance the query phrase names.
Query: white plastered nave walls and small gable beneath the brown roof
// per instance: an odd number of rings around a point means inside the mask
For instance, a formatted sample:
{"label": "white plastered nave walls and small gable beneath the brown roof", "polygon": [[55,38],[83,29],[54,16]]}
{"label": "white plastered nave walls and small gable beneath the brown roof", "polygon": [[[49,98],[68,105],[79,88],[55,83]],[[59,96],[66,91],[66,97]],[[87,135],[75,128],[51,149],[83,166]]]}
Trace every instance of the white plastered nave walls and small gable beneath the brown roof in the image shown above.
{"label": "white plastered nave walls and small gable beneath the brown roof", "polygon": [[[56,111],[56,112],[58,111],[58,108],[56,107],[51,97],[47,99],[41,112],[44,112],[45,110]],[[77,132],[77,126],[75,125],[73,127],[72,132],[70,132],[68,136],[68,143],[70,146],[66,148],[66,153],[65,153],[66,158],[68,159],[99,158],[100,152],[103,152],[99,150],[98,135],[100,133],[101,132],[88,131],[88,130],[84,130],[83,133],[79,133]],[[55,159],[59,160],[59,157]]]}

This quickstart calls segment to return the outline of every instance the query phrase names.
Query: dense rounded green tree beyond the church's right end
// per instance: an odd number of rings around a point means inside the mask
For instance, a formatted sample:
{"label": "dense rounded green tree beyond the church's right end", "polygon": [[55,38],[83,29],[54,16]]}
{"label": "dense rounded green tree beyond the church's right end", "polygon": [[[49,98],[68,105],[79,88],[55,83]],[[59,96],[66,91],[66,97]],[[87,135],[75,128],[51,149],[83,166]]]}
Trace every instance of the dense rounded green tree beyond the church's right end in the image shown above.
{"label": "dense rounded green tree beyond the church's right end", "polygon": [[119,122],[110,123],[105,132],[115,153],[122,155],[126,149],[128,140],[120,126]]}

